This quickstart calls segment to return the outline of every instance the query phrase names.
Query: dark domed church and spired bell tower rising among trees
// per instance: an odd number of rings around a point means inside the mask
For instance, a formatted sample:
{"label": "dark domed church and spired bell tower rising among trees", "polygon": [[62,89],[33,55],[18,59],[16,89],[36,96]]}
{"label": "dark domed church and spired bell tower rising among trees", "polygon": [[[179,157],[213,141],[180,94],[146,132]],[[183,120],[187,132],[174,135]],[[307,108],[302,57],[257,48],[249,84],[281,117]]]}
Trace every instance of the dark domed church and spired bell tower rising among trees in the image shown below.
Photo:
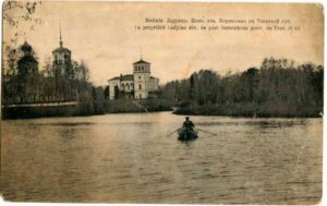
{"label": "dark domed church and spired bell tower rising among trees", "polygon": [[72,101],[76,89],[66,81],[73,66],[71,51],[63,47],[61,32],[59,48],[52,51],[52,66],[39,71],[38,61],[32,46],[25,43],[19,48],[17,57],[9,60],[9,72],[4,75],[3,104],[34,104],[50,101]]}

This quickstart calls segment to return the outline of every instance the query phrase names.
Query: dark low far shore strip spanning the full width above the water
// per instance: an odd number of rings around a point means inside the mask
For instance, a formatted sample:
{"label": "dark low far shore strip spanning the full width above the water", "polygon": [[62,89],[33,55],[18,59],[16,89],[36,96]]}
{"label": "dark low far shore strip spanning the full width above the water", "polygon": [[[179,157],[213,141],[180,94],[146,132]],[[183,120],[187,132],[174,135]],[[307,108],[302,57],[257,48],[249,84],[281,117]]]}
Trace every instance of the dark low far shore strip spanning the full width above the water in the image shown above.
{"label": "dark low far shore strip spanning the full width above the water", "polygon": [[98,112],[83,112],[83,107],[64,106],[47,108],[2,108],[2,119],[33,119],[47,117],[87,117],[107,113],[150,113],[171,111],[177,116],[207,116],[207,117],[233,117],[233,118],[320,118],[323,108],[319,107],[290,107],[290,106],[255,106],[254,104],[230,105],[190,105],[178,107],[174,110],[171,104],[162,99],[112,100],[104,105]]}

